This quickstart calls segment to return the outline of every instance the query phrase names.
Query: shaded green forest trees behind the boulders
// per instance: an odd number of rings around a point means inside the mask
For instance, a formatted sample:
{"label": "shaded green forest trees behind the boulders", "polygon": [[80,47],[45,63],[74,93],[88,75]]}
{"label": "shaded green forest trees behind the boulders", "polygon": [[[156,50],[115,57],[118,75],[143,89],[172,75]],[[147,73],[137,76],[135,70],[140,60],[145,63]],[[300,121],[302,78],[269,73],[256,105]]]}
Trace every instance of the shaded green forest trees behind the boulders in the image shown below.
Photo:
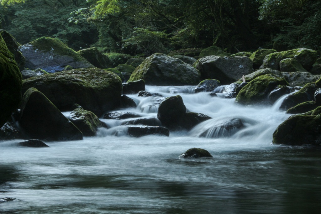
{"label": "shaded green forest trees behind the boulders", "polygon": [[[15,4],[13,4],[15,2]],[[319,0],[0,0],[1,28],[25,44],[58,38],[78,51],[132,56],[212,45],[321,50]]]}

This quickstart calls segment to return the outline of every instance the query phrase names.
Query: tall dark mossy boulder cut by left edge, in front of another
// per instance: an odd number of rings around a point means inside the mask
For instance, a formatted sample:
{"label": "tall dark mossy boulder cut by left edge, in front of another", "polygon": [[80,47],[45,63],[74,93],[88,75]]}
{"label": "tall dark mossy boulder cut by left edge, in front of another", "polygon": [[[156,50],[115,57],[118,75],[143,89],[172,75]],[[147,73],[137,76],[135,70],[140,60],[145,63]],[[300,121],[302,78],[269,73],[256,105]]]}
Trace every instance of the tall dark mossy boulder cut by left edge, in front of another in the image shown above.
{"label": "tall dark mossy boulder cut by left edge, in front of another", "polygon": [[21,102],[22,76],[0,35],[0,128]]}

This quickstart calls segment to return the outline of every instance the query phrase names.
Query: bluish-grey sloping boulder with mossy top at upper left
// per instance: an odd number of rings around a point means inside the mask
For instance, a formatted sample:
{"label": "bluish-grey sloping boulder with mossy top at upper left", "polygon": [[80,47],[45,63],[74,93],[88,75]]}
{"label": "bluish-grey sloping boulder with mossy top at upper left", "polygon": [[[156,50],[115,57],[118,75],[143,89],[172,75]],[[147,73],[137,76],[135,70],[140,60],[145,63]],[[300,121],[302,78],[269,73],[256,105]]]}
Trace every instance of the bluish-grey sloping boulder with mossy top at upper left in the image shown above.
{"label": "bluish-grey sloping boulder with mossy top at upper left", "polygon": [[41,37],[19,47],[29,69],[41,68],[48,73],[63,71],[66,65],[75,68],[94,67],[59,39]]}

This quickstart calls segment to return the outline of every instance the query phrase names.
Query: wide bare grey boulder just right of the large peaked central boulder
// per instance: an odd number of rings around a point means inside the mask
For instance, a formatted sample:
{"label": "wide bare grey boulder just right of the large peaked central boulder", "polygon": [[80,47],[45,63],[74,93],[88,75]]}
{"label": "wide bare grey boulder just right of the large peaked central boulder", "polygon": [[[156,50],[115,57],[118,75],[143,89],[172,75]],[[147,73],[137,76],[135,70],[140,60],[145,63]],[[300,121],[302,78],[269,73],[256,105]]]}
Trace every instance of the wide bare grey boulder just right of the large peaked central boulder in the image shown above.
{"label": "wide bare grey boulder just right of the large peaked central boulder", "polygon": [[197,60],[194,66],[201,72],[202,79],[215,79],[223,85],[253,72],[252,61],[246,56],[205,56]]}

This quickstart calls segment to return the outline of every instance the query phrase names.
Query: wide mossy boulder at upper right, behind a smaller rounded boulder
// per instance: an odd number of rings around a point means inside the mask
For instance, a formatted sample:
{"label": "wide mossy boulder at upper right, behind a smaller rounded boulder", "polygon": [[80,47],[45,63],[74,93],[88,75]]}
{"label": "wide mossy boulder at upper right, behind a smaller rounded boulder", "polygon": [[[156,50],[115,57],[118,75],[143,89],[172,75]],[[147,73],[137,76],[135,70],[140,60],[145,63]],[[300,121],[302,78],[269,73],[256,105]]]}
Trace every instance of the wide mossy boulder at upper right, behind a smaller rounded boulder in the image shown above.
{"label": "wide mossy boulder at upper right, behind a smaller rounded boulder", "polygon": [[280,71],[280,61],[286,58],[296,59],[304,69],[310,70],[312,68],[312,65],[317,60],[317,51],[307,48],[298,48],[288,51],[271,53],[265,56],[260,69],[271,68]]}

